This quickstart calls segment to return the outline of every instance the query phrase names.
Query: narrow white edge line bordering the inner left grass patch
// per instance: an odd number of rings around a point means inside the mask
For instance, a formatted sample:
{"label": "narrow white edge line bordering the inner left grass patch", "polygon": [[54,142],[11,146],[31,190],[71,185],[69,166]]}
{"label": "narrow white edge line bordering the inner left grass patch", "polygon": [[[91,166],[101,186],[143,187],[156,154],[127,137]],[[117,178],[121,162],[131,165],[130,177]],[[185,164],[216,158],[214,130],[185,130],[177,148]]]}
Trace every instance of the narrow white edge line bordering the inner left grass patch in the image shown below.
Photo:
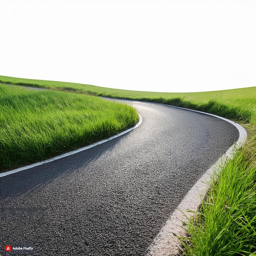
{"label": "narrow white edge line bordering the inner left grass patch", "polygon": [[[138,115],[139,115],[139,114],[138,114]],[[24,170],[27,170],[27,169],[29,169],[29,168],[33,168],[33,167],[35,167],[35,166],[39,166],[39,165],[42,165],[42,164],[46,164],[46,163],[52,162],[52,161],[54,161],[54,160],[61,159],[61,158],[63,158],[63,157],[67,157],[67,156],[70,156],[70,155],[74,155],[74,154],[79,153],[79,152],[81,152],[81,151],[84,151],[84,150],[87,150],[87,149],[89,149],[89,148],[95,147],[95,146],[97,146],[97,145],[100,145],[100,144],[102,144],[102,143],[105,143],[105,142],[107,142],[107,141],[110,141],[111,139],[115,139],[115,138],[117,138],[117,137],[119,137],[119,136],[121,136],[121,135],[124,135],[124,134],[126,134],[127,132],[130,132],[131,130],[137,128],[137,127],[141,124],[141,122],[142,122],[142,117],[141,117],[141,115],[139,115],[139,122],[138,122],[135,126],[133,126],[132,128],[129,128],[128,130],[125,130],[124,132],[120,132],[120,133],[118,133],[118,134],[116,134],[116,135],[114,135],[114,136],[109,137],[108,139],[103,139],[103,140],[98,141],[98,142],[96,142],[96,143],[94,143],[94,144],[91,144],[91,145],[89,145],[89,146],[85,146],[85,147],[83,147],[83,148],[79,148],[79,149],[77,149],[77,150],[70,151],[70,152],[67,152],[67,153],[65,153],[65,154],[58,155],[58,156],[56,156],[56,157],[52,157],[52,158],[50,158],[50,159],[43,160],[43,161],[41,161],[41,162],[37,162],[37,163],[30,164],[30,165],[27,165],[27,166],[23,166],[23,167],[20,167],[20,168],[11,170],[11,171],[7,171],[7,172],[4,172],[4,173],[0,173],[0,177],[4,177],[4,176],[7,176],[7,175],[11,175],[11,174],[13,174],[13,173],[18,173],[18,172],[20,172],[20,171],[24,171]]]}

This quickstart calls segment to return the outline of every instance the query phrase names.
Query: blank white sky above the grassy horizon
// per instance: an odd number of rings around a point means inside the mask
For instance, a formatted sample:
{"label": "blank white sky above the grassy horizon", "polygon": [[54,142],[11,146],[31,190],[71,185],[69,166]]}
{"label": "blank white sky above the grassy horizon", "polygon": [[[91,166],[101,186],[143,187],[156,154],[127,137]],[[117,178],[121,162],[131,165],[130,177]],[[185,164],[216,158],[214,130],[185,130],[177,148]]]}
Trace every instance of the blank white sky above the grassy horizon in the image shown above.
{"label": "blank white sky above the grassy horizon", "polygon": [[0,0],[0,75],[160,92],[256,86],[256,1]]}

